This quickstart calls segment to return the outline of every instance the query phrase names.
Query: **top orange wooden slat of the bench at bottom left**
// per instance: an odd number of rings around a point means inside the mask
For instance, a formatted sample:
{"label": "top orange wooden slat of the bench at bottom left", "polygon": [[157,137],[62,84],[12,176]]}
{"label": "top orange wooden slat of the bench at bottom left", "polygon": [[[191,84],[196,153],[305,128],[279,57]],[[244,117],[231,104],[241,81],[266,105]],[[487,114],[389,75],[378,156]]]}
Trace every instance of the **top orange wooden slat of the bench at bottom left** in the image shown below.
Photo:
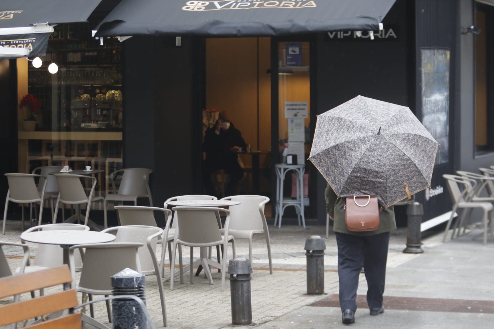
{"label": "top orange wooden slat of the bench at bottom left", "polygon": [[12,275],[0,279],[0,298],[71,282],[72,275],[67,265],[26,273],[22,276]]}

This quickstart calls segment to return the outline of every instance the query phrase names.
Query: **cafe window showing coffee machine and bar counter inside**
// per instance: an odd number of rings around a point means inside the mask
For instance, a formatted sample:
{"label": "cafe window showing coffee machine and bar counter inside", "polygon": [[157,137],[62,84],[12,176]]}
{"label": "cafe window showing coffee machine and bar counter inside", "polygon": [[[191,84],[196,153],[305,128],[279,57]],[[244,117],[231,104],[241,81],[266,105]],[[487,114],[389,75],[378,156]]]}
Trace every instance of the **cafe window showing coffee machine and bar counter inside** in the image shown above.
{"label": "cafe window showing coffee machine and bar counter inside", "polygon": [[87,23],[58,25],[41,67],[18,60],[18,165],[19,172],[101,169],[95,195],[104,196],[107,177],[122,167],[122,51],[116,39],[101,44],[90,30]]}

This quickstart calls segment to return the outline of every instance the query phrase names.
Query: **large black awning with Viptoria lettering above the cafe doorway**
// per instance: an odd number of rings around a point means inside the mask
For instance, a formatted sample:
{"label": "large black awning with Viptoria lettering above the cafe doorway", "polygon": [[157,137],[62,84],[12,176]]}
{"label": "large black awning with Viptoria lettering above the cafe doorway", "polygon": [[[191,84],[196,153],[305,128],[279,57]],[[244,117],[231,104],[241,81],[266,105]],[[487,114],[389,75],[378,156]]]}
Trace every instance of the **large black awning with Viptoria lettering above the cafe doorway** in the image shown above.
{"label": "large black awning with Viptoria lettering above the cafe doorway", "polygon": [[277,36],[377,30],[395,0],[122,0],[97,36]]}

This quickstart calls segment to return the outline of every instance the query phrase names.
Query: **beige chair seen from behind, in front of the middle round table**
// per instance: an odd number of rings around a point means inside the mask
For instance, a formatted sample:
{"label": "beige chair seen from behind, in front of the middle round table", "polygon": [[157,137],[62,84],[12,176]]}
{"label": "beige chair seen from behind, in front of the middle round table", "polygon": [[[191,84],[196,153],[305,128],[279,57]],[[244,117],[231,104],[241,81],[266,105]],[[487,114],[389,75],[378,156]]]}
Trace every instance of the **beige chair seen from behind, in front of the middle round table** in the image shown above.
{"label": "beige chair seen from behind, in front of the middle round table", "polygon": [[[202,259],[204,264],[211,264],[221,268],[221,291],[225,288],[226,256],[228,242],[232,242],[233,257],[235,258],[235,240],[228,235],[230,225],[230,211],[216,207],[174,207],[172,210],[177,214],[177,230],[173,239],[173,255],[171,258],[171,278],[170,289],[173,289],[173,278],[175,276],[175,256],[178,245],[191,247],[190,261],[194,261],[194,247],[223,247],[223,264],[212,261],[210,258]],[[218,223],[215,220],[216,212],[226,213],[224,235],[221,235]],[[213,284],[209,266],[204,266],[204,271],[209,276],[209,282]],[[190,281],[193,283],[194,271],[190,270]],[[182,279],[182,278],[181,278]],[[182,280],[181,280],[182,282]]]}

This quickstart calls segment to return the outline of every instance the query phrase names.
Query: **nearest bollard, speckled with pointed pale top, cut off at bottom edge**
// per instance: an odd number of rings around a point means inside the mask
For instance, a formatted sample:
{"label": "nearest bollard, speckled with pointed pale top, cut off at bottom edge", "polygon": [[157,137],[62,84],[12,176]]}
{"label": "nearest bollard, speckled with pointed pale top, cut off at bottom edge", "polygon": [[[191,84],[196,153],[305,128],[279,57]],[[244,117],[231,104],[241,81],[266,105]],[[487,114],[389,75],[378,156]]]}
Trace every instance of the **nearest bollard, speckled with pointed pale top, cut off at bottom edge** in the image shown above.
{"label": "nearest bollard, speckled with pointed pale top, cut off at bottom edge", "polygon": [[[112,275],[113,295],[136,295],[146,304],[144,297],[145,276],[126,268]],[[128,298],[112,300],[114,329],[146,329],[147,321],[139,304]]]}

